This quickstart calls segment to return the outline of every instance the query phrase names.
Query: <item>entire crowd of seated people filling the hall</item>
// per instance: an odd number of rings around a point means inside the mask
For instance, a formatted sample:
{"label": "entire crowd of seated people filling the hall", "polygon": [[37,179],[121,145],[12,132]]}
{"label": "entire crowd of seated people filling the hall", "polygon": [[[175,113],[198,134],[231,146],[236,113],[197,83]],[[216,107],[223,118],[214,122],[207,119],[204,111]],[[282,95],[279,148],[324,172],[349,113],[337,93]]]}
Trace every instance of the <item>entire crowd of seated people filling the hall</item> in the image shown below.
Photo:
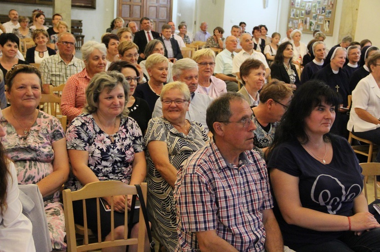
{"label": "entire crowd of seated people filling the hall", "polygon": [[[54,26],[48,29],[42,12],[33,13],[30,27],[28,18],[15,12],[4,24],[10,32],[0,34],[0,156],[13,162],[0,157],[0,181],[8,181],[0,187],[2,225],[9,221],[9,206],[17,213],[12,218],[30,231],[18,201],[11,202],[4,191],[14,196],[17,190],[9,182],[15,179],[37,184],[53,249],[64,251],[62,184],[79,190],[94,181],[147,181],[149,221],[167,251],[224,247],[223,242],[239,250],[380,247],[380,224],[368,212],[361,169],[346,140],[352,132],[380,144],[380,53],[370,40],[346,36],[328,50],[320,31],[304,41],[300,30],[289,29],[280,42],[281,34],[269,37],[267,26],[254,26],[251,35],[241,22],[224,39],[225,28],[218,26],[210,34],[206,22],[193,36],[185,23],[175,34],[172,21],[157,32],[144,17],[138,31],[135,22],[116,18],[101,41],[83,44],[80,60],[61,15],[53,16]],[[36,45],[24,61],[20,39],[27,37]],[[192,41],[205,46],[192,59],[182,59],[180,48]],[[28,63],[41,63],[40,71]],[[36,109],[42,93],[59,84],[65,84],[61,109],[67,132],[58,119]],[[375,161],[380,162],[379,155]],[[213,169],[204,169],[210,165]],[[247,175],[244,167],[251,166],[260,175]],[[241,195],[232,189],[238,176],[244,177],[238,185]],[[257,188],[251,182],[244,185],[252,178]],[[247,187],[253,193],[261,188],[262,195],[245,196]],[[325,199],[325,191],[339,200]],[[246,208],[236,195],[251,204],[257,200],[260,208]],[[223,209],[229,197],[234,198],[227,210],[231,219],[239,215],[233,223]],[[104,200],[111,204],[110,198]],[[113,199],[116,239],[123,237],[121,213],[130,200]],[[87,204],[96,209],[95,200]],[[82,203],[74,206],[78,224],[83,224],[82,209]],[[198,211],[203,211],[197,216],[204,218],[202,224],[192,216]],[[109,212],[100,215],[106,226]],[[94,233],[96,218],[95,211],[88,215]],[[249,228],[248,219],[254,220]],[[137,225],[130,231],[137,237]],[[110,240],[110,232],[102,228],[102,239]],[[147,243],[146,238],[145,248]],[[20,246],[32,247],[32,238],[25,236]]]}

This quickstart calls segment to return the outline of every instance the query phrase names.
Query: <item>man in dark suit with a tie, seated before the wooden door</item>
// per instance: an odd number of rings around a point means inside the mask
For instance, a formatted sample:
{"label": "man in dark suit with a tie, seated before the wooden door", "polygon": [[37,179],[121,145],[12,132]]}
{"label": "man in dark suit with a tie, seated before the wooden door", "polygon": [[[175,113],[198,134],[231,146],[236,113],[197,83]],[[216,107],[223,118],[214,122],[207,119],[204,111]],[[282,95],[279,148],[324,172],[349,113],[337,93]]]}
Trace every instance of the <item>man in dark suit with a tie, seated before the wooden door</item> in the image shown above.
{"label": "man in dark suit with a tie, seated before the wooden door", "polygon": [[150,20],[147,17],[143,17],[140,20],[140,25],[143,30],[135,33],[133,42],[138,46],[138,53],[140,54],[140,57],[145,59],[144,50],[146,44],[152,39],[159,38],[160,33],[150,30]]}

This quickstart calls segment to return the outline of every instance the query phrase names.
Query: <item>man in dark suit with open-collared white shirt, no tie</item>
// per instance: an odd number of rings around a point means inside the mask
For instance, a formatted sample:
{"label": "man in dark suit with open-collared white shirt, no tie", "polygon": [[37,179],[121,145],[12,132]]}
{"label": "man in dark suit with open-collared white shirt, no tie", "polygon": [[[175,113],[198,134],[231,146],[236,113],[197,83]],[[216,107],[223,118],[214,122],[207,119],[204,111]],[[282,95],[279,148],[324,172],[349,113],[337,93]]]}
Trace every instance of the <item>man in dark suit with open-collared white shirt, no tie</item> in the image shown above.
{"label": "man in dark suit with open-collared white shirt, no tie", "polygon": [[158,38],[164,43],[165,47],[165,57],[171,62],[176,62],[182,59],[181,49],[179,48],[177,40],[175,40],[172,35],[172,28],[169,24],[162,26],[162,37]]}

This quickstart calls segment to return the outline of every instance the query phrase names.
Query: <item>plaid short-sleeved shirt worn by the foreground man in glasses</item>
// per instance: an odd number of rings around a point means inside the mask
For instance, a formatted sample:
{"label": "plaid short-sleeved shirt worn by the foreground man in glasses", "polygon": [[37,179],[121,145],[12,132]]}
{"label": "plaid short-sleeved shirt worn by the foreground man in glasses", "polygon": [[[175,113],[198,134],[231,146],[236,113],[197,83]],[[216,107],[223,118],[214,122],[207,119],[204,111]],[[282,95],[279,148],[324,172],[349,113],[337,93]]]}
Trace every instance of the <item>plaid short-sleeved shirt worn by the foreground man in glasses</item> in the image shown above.
{"label": "plaid short-sleeved shirt worn by the foreground man in glasses", "polygon": [[267,168],[258,153],[242,153],[235,166],[226,163],[211,140],[178,172],[175,198],[176,251],[199,251],[195,232],[214,229],[239,251],[263,250],[260,211],[273,208],[273,199]]}

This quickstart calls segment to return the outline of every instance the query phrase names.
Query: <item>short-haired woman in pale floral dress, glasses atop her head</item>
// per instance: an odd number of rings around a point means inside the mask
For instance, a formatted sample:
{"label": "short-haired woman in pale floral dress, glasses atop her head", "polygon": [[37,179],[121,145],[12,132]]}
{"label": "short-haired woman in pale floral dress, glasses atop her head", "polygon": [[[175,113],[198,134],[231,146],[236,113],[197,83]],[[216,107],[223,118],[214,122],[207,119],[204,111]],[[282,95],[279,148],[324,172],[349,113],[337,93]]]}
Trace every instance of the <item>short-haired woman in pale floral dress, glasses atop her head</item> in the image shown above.
{"label": "short-haired woman in pale floral dress, glasses atop her head", "polygon": [[57,118],[36,109],[42,89],[37,68],[16,65],[7,73],[6,83],[11,106],[3,110],[0,118],[8,121],[4,147],[16,166],[18,183],[36,184],[41,191],[53,249],[66,251],[63,205],[59,199],[69,173],[65,132]]}

